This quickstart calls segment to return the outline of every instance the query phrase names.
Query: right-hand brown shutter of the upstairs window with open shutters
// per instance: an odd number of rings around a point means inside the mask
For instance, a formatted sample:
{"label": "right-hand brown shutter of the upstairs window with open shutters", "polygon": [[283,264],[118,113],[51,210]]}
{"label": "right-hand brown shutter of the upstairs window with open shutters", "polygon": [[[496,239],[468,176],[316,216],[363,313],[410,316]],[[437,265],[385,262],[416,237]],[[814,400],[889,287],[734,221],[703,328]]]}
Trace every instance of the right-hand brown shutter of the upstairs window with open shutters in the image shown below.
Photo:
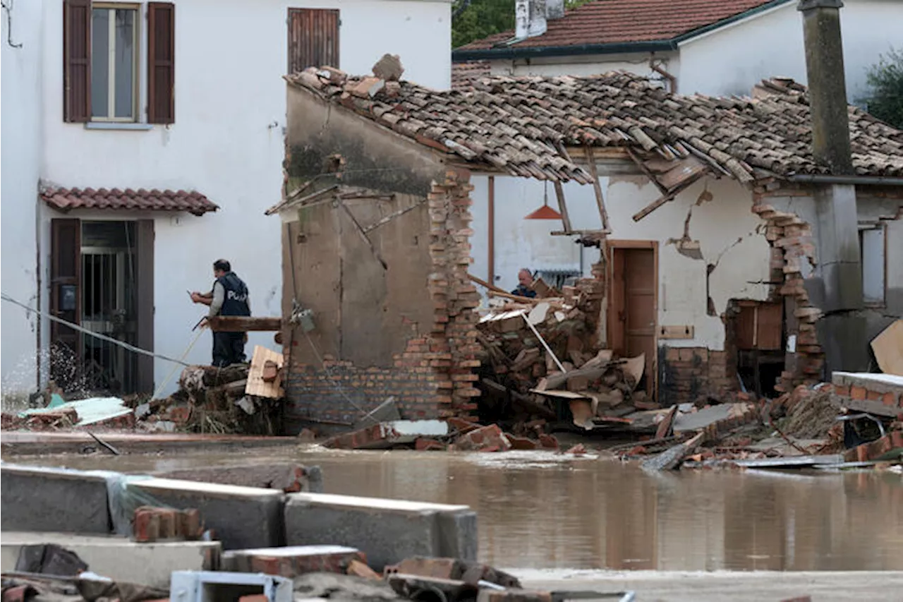
{"label": "right-hand brown shutter of the upstairs window with open shutters", "polygon": [[175,123],[175,5],[147,3],[147,121]]}

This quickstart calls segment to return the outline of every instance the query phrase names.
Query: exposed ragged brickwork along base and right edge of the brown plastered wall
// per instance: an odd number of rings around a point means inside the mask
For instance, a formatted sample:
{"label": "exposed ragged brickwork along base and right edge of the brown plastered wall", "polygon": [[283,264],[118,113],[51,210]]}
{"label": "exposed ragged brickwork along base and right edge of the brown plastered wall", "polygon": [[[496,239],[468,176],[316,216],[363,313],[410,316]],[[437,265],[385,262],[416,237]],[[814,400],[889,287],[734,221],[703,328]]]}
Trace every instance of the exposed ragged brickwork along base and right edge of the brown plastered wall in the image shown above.
{"label": "exposed ragged brickwork along base and right edge of the brown plastered wall", "polygon": [[[391,368],[357,366],[326,356],[322,364],[290,361],[285,392],[286,430],[305,426],[349,428],[362,410],[395,397],[405,419],[470,418],[476,409],[474,386],[479,367],[476,323],[479,293],[467,276],[470,267],[470,174],[450,170],[433,183],[430,214],[429,276],[433,324],[418,332],[412,325],[405,351]],[[292,347],[307,344],[296,327]]]}

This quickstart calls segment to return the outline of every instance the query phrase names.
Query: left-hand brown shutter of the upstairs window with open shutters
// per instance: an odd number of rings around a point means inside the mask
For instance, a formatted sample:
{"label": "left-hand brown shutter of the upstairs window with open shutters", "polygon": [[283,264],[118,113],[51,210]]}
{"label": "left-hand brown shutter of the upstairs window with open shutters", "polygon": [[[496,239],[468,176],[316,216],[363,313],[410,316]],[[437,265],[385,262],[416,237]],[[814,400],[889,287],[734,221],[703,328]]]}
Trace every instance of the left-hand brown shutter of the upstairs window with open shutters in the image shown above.
{"label": "left-hand brown shutter of the upstairs window with open shutters", "polygon": [[63,121],[91,119],[91,2],[62,3]]}

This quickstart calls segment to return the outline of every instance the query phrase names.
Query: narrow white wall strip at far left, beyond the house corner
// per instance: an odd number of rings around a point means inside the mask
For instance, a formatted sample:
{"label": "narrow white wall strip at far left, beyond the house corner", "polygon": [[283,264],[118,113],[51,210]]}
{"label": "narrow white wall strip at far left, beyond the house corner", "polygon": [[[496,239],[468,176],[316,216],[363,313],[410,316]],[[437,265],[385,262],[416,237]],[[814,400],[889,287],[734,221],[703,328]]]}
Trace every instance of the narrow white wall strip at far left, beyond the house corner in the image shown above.
{"label": "narrow white wall strip at far left, beyond the house corner", "polygon": [[[16,2],[12,31],[0,11],[0,293],[34,304],[37,186],[41,165],[41,5]],[[21,48],[10,46],[8,39]],[[0,411],[34,390],[37,321],[0,301]]]}

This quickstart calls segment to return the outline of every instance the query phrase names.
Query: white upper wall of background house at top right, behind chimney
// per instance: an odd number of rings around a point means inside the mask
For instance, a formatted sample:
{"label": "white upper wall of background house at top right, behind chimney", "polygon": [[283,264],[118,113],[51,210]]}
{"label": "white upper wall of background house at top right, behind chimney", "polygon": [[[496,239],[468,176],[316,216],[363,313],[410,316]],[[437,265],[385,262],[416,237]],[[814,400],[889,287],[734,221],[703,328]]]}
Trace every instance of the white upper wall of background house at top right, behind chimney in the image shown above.
{"label": "white upper wall of background house at top right, behind chimney", "polygon": [[[864,94],[866,71],[891,46],[903,46],[903,3],[845,0],[843,60],[851,102]],[[678,88],[712,96],[749,95],[759,80],[792,77],[805,83],[802,14],[796,2],[721,28],[680,46]]]}

